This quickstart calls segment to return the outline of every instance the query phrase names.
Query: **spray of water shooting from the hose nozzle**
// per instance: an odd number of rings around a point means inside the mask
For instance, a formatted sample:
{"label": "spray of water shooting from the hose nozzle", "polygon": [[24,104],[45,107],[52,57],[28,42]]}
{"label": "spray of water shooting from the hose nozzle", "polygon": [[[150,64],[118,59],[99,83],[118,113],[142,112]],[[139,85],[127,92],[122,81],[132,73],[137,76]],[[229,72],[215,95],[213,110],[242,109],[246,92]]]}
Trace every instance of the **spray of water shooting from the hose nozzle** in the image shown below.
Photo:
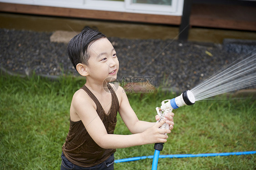
{"label": "spray of water shooting from the hose nozzle", "polygon": [[227,68],[200,83],[191,92],[195,101],[256,85],[256,53],[236,60]]}

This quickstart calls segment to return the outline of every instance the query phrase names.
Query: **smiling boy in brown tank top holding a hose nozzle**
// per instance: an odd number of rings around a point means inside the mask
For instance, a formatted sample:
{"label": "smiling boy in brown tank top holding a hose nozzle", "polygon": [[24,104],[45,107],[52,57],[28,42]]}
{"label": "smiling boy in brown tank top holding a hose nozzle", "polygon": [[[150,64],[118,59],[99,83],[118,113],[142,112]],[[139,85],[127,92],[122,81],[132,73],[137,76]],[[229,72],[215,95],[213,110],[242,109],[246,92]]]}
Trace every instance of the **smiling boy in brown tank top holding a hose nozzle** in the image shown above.
{"label": "smiling boy in brown tank top holding a hose nozzle", "polygon": [[[173,129],[174,113],[166,114],[166,120],[158,123],[139,121],[123,88],[113,90],[109,82],[117,78],[119,62],[104,34],[86,28],[69,42],[67,51],[86,83],[72,99],[61,170],[113,170],[116,148],[167,141],[164,134]],[[113,134],[117,112],[132,135]],[[169,124],[170,130],[159,129],[164,123]]]}

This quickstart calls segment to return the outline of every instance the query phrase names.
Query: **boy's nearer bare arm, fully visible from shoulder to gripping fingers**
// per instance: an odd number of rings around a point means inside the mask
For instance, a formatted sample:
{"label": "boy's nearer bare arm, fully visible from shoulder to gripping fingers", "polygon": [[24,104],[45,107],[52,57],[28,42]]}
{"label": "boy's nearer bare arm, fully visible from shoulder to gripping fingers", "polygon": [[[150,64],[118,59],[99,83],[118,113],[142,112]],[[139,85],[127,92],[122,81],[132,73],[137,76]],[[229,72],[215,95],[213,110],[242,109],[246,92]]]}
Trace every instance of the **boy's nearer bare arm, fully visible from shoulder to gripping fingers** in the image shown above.
{"label": "boy's nearer bare arm, fully visible from shoulder to gripping fingers", "polygon": [[148,130],[143,133],[133,135],[108,134],[102,120],[96,112],[95,103],[89,96],[81,91],[74,95],[71,107],[73,112],[75,112],[82,120],[92,139],[105,149],[166,142],[168,136],[164,135],[164,133],[170,133],[170,130],[159,129],[165,122],[161,121],[159,123],[154,123],[154,126],[148,128]]}

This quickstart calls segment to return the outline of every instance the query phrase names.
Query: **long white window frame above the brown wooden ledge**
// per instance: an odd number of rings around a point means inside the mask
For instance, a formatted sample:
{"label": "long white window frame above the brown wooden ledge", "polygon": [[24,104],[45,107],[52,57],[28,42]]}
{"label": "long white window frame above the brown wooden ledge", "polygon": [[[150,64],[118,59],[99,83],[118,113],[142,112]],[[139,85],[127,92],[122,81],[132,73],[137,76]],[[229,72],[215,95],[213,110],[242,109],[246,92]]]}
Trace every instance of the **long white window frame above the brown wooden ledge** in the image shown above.
{"label": "long white window frame above the brown wooden ledge", "polygon": [[42,5],[85,10],[103,10],[155,15],[181,16],[184,0],[172,0],[172,5],[137,4],[132,0],[0,0],[0,2]]}

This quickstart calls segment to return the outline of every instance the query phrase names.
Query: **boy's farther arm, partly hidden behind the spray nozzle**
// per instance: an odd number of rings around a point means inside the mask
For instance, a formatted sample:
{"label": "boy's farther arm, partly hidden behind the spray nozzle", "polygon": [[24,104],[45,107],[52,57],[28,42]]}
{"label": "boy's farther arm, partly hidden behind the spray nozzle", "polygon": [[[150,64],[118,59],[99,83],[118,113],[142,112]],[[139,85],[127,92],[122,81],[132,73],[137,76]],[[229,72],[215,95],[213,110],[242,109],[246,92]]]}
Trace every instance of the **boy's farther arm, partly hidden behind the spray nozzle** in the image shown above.
{"label": "boy's farther arm, partly hidden behind the spray nozzle", "polygon": [[[123,119],[123,122],[128,127],[129,131],[133,134],[135,133],[141,133],[145,130],[147,130],[149,127],[152,127],[155,125],[155,122],[147,122],[147,121],[140,121],[138,120],[137,115],[133,111],[132,107],[130,106],[130,103],[128,101],[128,97],[126,93],[124,92],[122,87],[118,87],[118,95],[121,96],[121,102],[119,107],[119,114]],[[150,116],[150,115],[148,115]],[[173,116],[174,113],[168,113],[165,115],[166,117],[166,123],[170,125],[170,129],[173,129],[174,122],[173,122]],[[156,120],[159,120],[159,116],[156,116]]]}

